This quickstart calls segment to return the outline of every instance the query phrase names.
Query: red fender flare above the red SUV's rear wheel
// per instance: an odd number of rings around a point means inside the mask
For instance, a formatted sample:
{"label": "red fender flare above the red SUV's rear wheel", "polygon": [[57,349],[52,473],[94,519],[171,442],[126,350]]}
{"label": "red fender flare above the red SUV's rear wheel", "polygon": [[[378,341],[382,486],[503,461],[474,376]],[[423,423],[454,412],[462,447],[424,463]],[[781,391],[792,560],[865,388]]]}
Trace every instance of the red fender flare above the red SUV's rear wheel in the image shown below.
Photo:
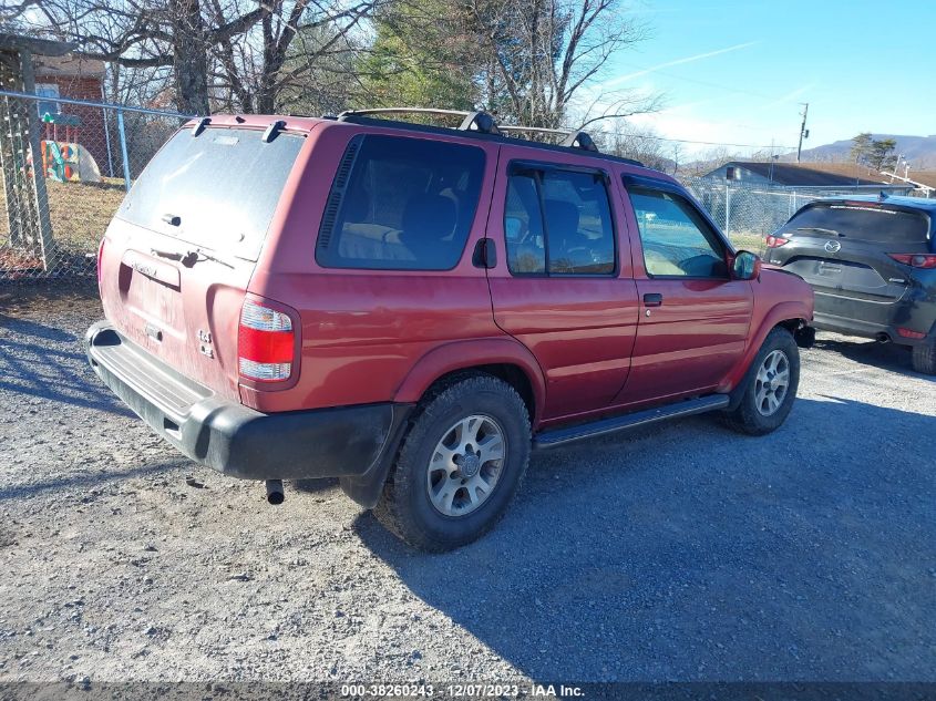
{"label": "red fender flare above the red SUV's rear wheel", "polygon": [[533,403],[536,416],[543,415],[546,402],[546,381],[539,363],[523,343],[513,338],[487,338],[452,341],[433,348],[416,361],[400,386],[393,401],[415,403],[439,378],[477,365],[516,365],[526,375],[533,388]]}

